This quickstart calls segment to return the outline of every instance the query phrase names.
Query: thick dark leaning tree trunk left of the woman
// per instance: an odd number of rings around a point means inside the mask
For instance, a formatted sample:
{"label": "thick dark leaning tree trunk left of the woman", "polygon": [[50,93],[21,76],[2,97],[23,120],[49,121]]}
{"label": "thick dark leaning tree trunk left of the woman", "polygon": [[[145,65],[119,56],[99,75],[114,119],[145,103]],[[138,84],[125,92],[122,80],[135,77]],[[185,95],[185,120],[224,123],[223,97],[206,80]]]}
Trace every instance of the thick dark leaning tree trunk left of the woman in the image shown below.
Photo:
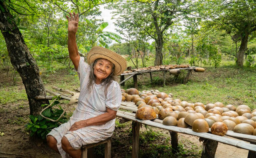
{"label": "thick dark leaning tree trunk left of the woman", "polygon": [[46,95],[39,76],[39,69],[15,22],[10,21],[13,16],[6,8],[5,2],[0,1],[0,5],[4,9],[4,12],[0,10],[0,29],[6,42],[12,66],[22,78],[29,101],[30,114],[37,115],[42,110],[41,104],[49,103],[46,100],[35,99],[35,96]]}

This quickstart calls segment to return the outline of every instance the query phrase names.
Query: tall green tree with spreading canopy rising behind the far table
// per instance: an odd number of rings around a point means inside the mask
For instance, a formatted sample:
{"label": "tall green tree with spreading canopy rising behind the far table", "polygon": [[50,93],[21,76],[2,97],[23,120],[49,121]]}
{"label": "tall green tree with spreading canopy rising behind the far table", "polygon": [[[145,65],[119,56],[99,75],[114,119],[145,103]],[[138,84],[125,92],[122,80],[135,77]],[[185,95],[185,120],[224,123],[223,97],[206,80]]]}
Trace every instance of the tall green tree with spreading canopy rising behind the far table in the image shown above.
{"label": "tall green tree with spreading canopy rising behind the far table", "polygon": [[[175,20],[189,12],[188,0],[118,1],[108,6],[119,17],[120,28],[138,28],[155,40],[156,58],[154,65],[163,63],[163,35]],[[127,29],[127,33],[129,29]]]}

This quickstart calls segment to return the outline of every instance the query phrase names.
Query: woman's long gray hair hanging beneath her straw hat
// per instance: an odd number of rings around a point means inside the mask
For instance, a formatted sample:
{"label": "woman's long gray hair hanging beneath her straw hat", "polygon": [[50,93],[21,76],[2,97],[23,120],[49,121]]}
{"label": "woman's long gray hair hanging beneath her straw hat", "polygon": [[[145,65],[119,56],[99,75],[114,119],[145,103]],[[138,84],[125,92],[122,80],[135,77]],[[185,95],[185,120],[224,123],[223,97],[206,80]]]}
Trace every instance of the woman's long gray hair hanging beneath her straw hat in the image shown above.
{"label": "woman's long gray hair hanging beneath her straw hat", "polygon": [[[89,84],[88,84],[88,87],[87,87],[89,89],[89,91],[91,89],[90,87],[93,85],[93,83],[95,82],[95,79],[96,79],[96,76],[94,75],[94,68],[93,67],[97,63],[97,61],[100,60],[100,59],[103,59],[103,58],[98,58],[98,59],[94,60],[94,62],[90,65],[91,71],[90,71],[90,76],[89,76]],[[103,85],[106,86],[105,94],[107,93],[107,89],[110,86],[110,84],[112,83],[112,81],[115,81],[116,78],[117,78],[117,76],[114,73],[115,73],[115,65],[113,64],[110,75],[107,78],[105,78],[104,80],[102,80]]]}

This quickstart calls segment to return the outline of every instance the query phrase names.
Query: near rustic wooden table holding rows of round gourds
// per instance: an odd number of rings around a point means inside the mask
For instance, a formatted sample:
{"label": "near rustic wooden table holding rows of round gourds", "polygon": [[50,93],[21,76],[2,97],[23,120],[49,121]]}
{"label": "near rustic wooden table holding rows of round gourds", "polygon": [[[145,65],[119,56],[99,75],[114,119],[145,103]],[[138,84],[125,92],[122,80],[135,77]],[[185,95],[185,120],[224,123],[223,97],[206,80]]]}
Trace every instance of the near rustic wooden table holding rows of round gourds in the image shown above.
{"label": "near rustic wooden table holding rows of round gourds", "polygon": [[[233,131],[228,131],[225,136],[218,136],[208,133],[197,133],[192,131],[189,128],[181,128],[176,126],[166,126],[162,124],[162,120],[158,119],[158,117],[154,120],[139,120],[135,118],[135,112],[137,111],[136,105],[132,102],[122,102],[120,109],[129,110],[128,111],[117,111],[117,117],[122,118],[120,123],[124,123],[127,121],[132,121],[132,158],[138,158],[139,156],[139,130],[141,124],[166,129],[170,132],[171,135],[171,144],[172,144],[172,152],[175,153],[178,147],[178,134],[184,133],[189,135],[194,135],[200,137],[200,140],[203,140],[204,150],[202,152],[202,157],[214,157],[215,152],[218,146],[218,142],[228,144],[231,146],[235,146],[237,148],[242,148],[249,150],[248,158],[256,157],[256,136],[234,133]],[[210,131],[210,129],[209,129]],[[237,138],[240,140],[232,139],[229,137]],[[247,141],[247,142],[244,142]]]}

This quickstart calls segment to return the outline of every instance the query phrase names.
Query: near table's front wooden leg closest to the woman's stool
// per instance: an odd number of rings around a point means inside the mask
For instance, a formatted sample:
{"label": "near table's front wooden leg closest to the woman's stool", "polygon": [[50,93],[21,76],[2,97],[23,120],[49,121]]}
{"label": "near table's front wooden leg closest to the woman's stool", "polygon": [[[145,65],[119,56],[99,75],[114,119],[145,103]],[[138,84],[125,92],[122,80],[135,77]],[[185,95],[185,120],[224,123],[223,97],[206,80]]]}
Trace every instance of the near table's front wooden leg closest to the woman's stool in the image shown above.
{"label": "near table's front wooden leg closest to the woman's stool", "polygon": [[139,132],[140,132],[139,122],[132,122],[132,158],[139,157]]}

